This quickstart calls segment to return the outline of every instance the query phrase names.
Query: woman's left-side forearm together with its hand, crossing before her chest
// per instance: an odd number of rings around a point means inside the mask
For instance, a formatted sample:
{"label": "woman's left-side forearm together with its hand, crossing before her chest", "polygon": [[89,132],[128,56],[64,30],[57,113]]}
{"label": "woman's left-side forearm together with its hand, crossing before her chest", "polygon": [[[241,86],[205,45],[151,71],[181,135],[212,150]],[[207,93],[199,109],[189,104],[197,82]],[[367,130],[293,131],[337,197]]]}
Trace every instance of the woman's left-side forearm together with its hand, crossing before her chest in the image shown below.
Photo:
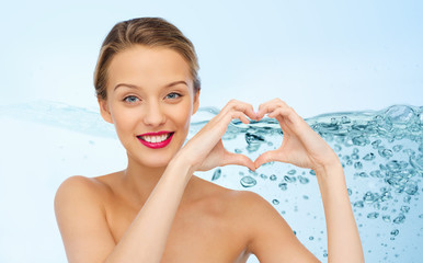
{"label": "woman's left-side forearm together with its hand, crossing before her chest", "polygon": [[241,164],[255,170],[244,156],[230,153],[221,144],[233,118],[249,123],[255,118],[252,106],[230,102],[171,160],[162,178],[106,262],[160,262],[172,221],[185,186],[194,171],[209,170],[217,165]]}

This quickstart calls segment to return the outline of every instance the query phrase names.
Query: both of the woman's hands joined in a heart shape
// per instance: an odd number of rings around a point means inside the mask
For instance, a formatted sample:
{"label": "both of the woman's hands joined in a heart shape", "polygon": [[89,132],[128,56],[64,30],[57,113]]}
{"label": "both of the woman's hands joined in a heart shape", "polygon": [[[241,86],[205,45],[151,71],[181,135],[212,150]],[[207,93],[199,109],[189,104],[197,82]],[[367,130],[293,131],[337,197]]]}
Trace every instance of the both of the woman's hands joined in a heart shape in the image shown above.
{"label": "both of the woman's hands joined in a heart shape", "polygon": [[[247,156],[227,151],[221,137],[229,123],[239,118],[249,124],[266,115],[277,119],[284,133],[279,148],[263,152],[254,161]],[[244,165],[252,171],[266,162],[279,161],[300,168],[322,170],[336,163],[338,156],[332,148],[285,102],[279,99],[265,102],[255,113],[251,104],[231,100],[211,118],[179,152],[186,158],[193,171],[207,171],[228,164]]]}

